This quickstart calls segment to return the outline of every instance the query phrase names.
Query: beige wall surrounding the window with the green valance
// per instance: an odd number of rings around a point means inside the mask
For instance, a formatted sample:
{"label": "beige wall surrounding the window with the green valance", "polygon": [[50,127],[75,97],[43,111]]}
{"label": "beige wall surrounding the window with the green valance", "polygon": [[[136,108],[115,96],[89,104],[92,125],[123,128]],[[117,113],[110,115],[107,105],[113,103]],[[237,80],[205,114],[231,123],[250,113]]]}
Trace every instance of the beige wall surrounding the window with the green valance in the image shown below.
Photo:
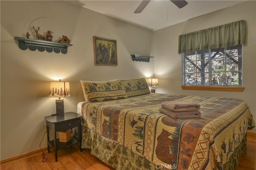
{"label": "beige wall surrounding the window with the green valance", "polygon": [[[246,101],[256,120],[256,1],[199,16],[161,30],[154,31],[154,75],[159,79],[156,93],[232,97]],[[210,7],[209,7],[210,8]],[[238,20],[246,20],[248,38],[243,46],[244,92],[182,90],[182,55],[178,54],[178,36]],[[253,129],[255,131],[255,128]]]}

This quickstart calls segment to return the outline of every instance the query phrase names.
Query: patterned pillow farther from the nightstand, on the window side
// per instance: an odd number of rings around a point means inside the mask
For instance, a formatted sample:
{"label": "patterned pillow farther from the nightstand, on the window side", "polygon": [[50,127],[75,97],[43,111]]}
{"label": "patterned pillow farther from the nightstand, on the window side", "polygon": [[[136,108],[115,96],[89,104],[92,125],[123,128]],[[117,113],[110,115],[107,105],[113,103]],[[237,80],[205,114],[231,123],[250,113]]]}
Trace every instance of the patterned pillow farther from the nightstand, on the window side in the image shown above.
{"label": "patterned pillow farther from the nightstand, on the window side", "polygon": [[150,89],[145,78],[122,80],[121,83],[128,97],[146,95],[150,93]]}

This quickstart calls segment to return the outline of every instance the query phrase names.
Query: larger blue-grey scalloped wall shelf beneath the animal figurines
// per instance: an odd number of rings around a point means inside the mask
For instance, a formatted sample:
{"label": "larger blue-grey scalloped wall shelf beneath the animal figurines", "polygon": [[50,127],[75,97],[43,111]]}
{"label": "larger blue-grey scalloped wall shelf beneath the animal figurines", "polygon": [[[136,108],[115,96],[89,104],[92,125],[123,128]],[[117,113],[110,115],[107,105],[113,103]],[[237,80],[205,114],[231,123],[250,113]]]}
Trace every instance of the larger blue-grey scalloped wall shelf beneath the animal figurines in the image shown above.
{"label": "larger blue-grey scalloped wall shelf beneath the animal figurines", "polygon": [[14,37],[14,40],[19,41],[20,49],[30,49],[31,51],[35,51],[36,49],[38,49],[38,51],[46,50],[49,53],[52,51],[59,53],[61,51],[63,54],[66,54],[68,52],[68,47],[72,46],[71,44],[48,42],[44,40],[35,40],[21,37]]}

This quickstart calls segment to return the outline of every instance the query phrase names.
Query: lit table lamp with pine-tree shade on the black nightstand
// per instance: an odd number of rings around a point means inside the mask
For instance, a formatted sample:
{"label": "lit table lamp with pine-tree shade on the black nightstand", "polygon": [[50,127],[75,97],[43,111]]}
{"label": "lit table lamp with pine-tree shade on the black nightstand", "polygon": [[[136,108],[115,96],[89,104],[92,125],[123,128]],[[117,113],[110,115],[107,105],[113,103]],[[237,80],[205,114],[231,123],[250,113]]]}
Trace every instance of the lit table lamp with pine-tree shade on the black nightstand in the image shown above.
{"label": "lit table lamp with pine-tree shade on the black nightstand", "polygon": [[64,116],[64,99],[60,97],[70,97],[70,86],[69,82],[51,82],[49,97],[58,97],[56,99],[56,117]]}

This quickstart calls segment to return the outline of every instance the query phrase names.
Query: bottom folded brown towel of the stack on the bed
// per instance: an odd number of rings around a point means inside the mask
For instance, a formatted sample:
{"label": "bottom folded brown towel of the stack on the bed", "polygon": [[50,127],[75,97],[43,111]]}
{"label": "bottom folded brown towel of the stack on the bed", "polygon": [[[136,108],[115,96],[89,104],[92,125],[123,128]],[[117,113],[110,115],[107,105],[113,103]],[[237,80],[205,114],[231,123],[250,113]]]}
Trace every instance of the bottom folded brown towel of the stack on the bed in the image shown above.
{"label": "bottom folded brown towel of the stack on the bed", "polygon": [[186,112],[174,112],[168,109],[164,109],[163,107],[159,108],[161,113],[164,113],[167,116],[170,116],[174,119],[189,119],[189,118],[200,118],[200,111],[186,111]]}

